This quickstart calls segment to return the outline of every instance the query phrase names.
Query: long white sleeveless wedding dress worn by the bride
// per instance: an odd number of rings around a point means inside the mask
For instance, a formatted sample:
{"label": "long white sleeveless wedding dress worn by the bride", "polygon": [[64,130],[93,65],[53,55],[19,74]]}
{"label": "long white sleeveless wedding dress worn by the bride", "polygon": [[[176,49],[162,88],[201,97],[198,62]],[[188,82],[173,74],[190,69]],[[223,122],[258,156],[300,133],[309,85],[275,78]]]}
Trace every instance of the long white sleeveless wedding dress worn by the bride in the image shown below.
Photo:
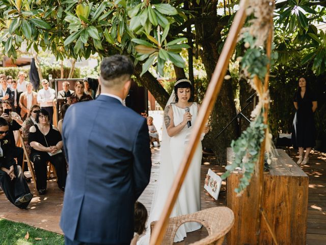
{"label": "long white sleeveless wedding dress worn by the bride", "polygon": [[[185,110],[171,104],[173,109],[174,125],[180,124],[183,120]],[[189,107],[189,112],[192,114],[192,125],[195,125],[195,120],[198,114],[197,103],[193,103]],[[187,147],[189,136],[193,127],[185,126],[177,135],[173,137],[165,136],[166,128],[163,127],[161,152],[160,152],[160,169],[158,183],[156,186],[154,199],[152,202],[150,215],[147,220],[146,234],[140,238],[138,245],[148,245],[150,238],[150,223],[160,218],[161,212],[165,206],[167,197],[171,191],[174,177],[179,169],[179,165],[184,156]],[[180,189],[178,199],[175,203],[170,217],[175,217],[183,214],[194,213],[201,210],[200,204],[200,168],[202,160],[202,143],[198,143],[196,152],[186,178]],[[186,232],[192,232],[201,228],[199,223],[191,222],[182,225],[174,238],[174,242],[182,241],[186,237]]]}

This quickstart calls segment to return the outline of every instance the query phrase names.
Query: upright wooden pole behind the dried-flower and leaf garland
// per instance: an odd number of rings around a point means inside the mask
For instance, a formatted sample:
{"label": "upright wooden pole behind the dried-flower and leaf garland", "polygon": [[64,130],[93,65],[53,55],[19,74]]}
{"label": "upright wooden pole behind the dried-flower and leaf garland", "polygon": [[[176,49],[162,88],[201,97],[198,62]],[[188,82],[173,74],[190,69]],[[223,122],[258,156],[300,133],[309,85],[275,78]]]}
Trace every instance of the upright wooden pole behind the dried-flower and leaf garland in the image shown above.
{"label": "upright wooden pole behind the dried-flower and leaf garland", "polygon": [[[273,1],[273,0],[272,0]],[[274,5],[274,1],[273,1],[273,5]],[[273,41],[273,16],[271,16],[270,20],[269,20],[269,32],[268,32],[268,37],[267,37],[267,41],[266,41],[266,55],[268,57],[268,59],[270,60],[270,55],[271,55],[271,45],[272,45],[272,41]],[[267,64],[267,72],[265,75],[265,80],[264,80],[264,87],[263,87],[263,94],[266,95],[267,91],[268,91],[268,83],[269,83],[269,69],[270,69],[270,65],[269,63]],[[259,81],[261,82],[261,81]],[[269,100],[269,97],[267,98],[261,98],[261,100]],[[268,109],[269,109],[269,102],[264,104],[264,124],[267,125],[267,119],[268,119]],[[257,185],[259,187],[259,194],[258,194],[258,210],[257,210],[257,224],[256,224],[256,235],[257,235],[257,244],[259,244],[259,235],[260,235],[260,224],[261,224],[261,218],[262,216],[264,217],[264,220],[266,222],[267,228],[271,234],[271,236],[273,237],[273,240],[275,242],[276,245],[278,245],[278,242],[276,240],[276,235],[274,230],[271,228],[267,217],[264,215],[264,210],[262,207],[262,193],[264,190],[264,174],[263,174],[263,170],[264,170],[264,157],[265,157],[265,145],[266,145],[266,139],[268,137],[267,135],[267,129],[264,130],[265,131],[265,138],[263,140],[263,142],[261,143],[261,148],[260,148],[260,156],[259,156],[259,162],[258,162],[258,181],[257,181]]]}

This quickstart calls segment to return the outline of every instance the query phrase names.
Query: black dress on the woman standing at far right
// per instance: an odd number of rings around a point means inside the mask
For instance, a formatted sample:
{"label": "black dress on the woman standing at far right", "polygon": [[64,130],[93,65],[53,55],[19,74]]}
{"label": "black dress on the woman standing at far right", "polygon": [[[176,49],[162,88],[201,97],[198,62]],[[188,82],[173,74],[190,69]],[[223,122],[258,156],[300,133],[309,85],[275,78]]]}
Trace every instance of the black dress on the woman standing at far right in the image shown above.
{"label": "black dress on the woman standing at far right", "polygon": [[294,93],[293,102],[297,102],[297,110],[293,121],[292,143],[295,147],[312,148],[315,145],[313,101],[317,99],[310,91],[306,91],[304,97],[301,97],[300,91]]}

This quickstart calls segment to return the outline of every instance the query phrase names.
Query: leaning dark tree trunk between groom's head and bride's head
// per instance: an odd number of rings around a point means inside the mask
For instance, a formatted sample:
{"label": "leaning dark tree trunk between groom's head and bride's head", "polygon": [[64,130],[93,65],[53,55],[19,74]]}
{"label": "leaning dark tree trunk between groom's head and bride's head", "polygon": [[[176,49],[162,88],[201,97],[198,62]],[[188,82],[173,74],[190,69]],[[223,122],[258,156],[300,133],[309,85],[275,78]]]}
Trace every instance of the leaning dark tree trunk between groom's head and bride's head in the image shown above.
{"label": "leaning dark tree trunk between groom's head and bride's head", "polygon": [[162,108],[165,108],[170,95],[149,71],[146,71],[145,74],[140,77],[141,72],[142,65],[137,64],[135,66],[135,77],[137,77],[139,81],[151,92],[151,94],[153,94],[157,103]]}

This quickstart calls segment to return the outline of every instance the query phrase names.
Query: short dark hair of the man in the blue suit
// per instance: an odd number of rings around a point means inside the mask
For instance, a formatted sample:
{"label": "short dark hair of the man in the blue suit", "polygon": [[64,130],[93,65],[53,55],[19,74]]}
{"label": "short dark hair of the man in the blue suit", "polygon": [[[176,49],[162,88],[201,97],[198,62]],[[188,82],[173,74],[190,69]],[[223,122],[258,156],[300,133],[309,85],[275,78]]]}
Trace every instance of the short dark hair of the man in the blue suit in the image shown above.
{"label": "short dark hair of the man in the blue suit", "polygon": [[107,88],[122,86],[130,79],[133,71],[134,66],[128,57],[110,56],[102,60],[100,80]]}

